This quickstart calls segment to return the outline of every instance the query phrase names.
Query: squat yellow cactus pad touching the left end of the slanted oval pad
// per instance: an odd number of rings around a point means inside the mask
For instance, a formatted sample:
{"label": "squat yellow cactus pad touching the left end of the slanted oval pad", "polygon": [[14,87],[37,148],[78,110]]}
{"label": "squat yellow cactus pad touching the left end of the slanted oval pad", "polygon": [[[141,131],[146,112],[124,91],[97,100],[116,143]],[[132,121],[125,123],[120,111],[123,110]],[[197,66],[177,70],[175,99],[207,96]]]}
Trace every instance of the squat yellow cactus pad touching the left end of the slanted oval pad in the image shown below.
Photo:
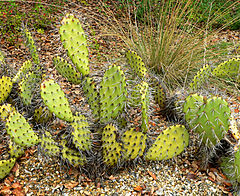
{"label": "squat yellow cactus pad touching the left end of the slanted oval pad", "polygon": [[123,142],[123,158],[125,160],[133,160],[143,156],[146,148],[147,135],[135,131],[134,128],[125,131],[121,137]]}

